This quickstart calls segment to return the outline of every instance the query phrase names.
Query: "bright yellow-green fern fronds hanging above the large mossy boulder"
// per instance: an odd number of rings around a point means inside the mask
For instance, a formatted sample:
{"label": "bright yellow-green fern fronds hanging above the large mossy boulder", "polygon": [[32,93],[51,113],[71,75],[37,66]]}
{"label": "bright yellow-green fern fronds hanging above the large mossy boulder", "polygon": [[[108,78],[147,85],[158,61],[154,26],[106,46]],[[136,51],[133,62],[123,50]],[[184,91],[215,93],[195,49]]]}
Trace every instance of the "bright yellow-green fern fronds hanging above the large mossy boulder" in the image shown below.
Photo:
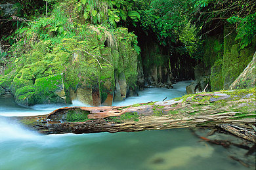
{"label": "bright yellow-green fern fronds hanging above the large mossy boulder", "polygon": [[103,24],[117,27],[121,20],[136,25],[139,22],[139,11],[134,6],[139,1],[129,0],[83,0],[77,3],[77,9],[83,13],[83,18],[91,24]]}

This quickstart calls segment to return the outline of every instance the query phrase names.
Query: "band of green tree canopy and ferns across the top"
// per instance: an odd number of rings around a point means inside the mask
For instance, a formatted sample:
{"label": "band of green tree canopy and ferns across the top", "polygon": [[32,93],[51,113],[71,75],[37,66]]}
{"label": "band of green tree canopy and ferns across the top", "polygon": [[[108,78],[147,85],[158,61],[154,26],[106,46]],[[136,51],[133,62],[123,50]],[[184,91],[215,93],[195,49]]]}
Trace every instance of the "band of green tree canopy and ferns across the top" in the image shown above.
{"label": "band of green tree canopy and ferns across the top", "polygon": [[[68,35],[69,31],[75,33],[72,27],[77,24],[100,24],[108,29],[133,27],[154,35],[163,46],[179,44],[181,53],[190,56],[196,56],[202,36],[226,23],[234,26],[241,48],[248,46],[256,35],[254,0],[17,0],[15,7],[18,8],[15,16],[24,18],[14,23],[16,34],[33,27],[42,31],[43,38],[49,37],[49,32]],[[58,18],[47,18],[46,10]],[[24,24],[26,20],[37,23]],[[2,41],[9,40],[11,44],[17,41],[15,33],[2,36]]]}

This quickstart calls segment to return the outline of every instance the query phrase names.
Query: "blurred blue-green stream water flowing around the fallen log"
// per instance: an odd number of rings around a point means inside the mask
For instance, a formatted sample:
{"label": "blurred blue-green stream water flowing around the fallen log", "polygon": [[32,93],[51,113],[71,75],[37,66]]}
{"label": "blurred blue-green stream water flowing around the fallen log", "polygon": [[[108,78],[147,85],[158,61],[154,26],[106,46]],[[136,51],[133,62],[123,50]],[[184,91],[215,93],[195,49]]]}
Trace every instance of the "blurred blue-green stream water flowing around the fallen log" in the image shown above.
{"label": "blurred blue-green stream water flowing around the fallen log", "polygon": [[[189,82],[167,90],[151,88],[114,105],[161,101],[184,95]],[[73,105],[82,105],[78,101]],[[234,154],[213,146],[190,129],[40,135],[9,116],[47,114],[64,105],[18,106],[12,95],[0,96],[0,169],[250,169],[230,159]],[[244,154],[247,150],[240,150]],[[251,157],[253,159],[253,157]]]}

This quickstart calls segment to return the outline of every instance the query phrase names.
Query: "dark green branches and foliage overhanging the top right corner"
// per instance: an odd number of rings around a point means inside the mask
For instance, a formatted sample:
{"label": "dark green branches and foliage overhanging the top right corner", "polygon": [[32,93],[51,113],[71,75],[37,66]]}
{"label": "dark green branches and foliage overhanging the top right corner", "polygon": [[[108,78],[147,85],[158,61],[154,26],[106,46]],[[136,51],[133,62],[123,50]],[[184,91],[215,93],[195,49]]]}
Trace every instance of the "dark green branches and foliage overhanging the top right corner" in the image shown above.
{"label": "dark green branches and foliage overhanging the top right corner", "polygon": [[256,3],[249,1],[200,0],[193,1],[194,9],[190,13],[190,20],[196,24],[200,34],[216,31],[226,21],[234,25],[238,33],[236,40],[240,40],[240,48],[248,46],[256,35]]}

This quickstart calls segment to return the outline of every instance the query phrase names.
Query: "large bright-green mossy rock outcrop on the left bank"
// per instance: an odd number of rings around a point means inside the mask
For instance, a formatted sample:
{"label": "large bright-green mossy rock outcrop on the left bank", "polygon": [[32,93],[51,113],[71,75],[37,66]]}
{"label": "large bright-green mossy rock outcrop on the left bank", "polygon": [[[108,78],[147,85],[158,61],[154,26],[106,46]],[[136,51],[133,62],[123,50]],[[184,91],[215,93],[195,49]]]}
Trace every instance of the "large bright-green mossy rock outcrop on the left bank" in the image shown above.
{"label": "large bright-green mossy rock outcrop on the left bank", "polygon": [[[136,36],[127,28],[115,35],[103,27],[89,26],[82,37],[62,39],[59,44],[40,41],[32,50],[7,66],[0,75],[0,88],[10,90],[16,103],[72,103],[112,105],[115,78],[119,97],[137,81]],[[110,36],[111,35],[111,36]],[[100,37],[100,39],[98,38]],[[110,40],[114,44],[110,43]],[[0,90],[1,90],[0,89]]]}

